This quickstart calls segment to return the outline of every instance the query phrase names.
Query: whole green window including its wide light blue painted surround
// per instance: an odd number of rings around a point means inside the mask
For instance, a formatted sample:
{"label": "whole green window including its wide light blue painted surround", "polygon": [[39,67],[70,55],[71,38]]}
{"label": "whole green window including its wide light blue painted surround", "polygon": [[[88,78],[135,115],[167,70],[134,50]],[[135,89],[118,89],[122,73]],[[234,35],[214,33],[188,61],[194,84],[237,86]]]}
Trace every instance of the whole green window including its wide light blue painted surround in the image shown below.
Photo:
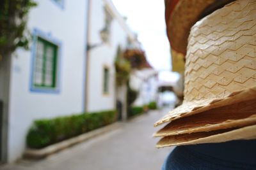
{"label": "whole green window including its wide light blue painted surround", "polygon": [[31,92],[60,92],[61,43],[38,29],[33,31],[31,48]]}

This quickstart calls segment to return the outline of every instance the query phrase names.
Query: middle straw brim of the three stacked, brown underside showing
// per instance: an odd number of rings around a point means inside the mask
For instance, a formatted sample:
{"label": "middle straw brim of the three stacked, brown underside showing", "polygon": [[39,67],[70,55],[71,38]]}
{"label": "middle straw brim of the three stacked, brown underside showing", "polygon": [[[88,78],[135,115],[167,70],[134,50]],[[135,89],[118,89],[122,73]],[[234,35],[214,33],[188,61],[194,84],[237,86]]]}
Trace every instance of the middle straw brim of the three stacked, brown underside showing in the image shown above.
{"label": "middle straw brim of the three stacked, brown underside showing", "polygon": [[256,100],[244,101],[173,120],[154,134],[164,137],[193,132],[209,132],[256,124]]}

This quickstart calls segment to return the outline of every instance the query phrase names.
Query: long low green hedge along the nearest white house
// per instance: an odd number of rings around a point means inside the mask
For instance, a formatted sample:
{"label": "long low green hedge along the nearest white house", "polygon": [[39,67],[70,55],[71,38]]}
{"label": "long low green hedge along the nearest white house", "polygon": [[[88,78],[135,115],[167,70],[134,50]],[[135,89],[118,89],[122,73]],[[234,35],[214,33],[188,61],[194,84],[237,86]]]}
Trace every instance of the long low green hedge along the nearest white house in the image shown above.
{"label": "long low green hedge along the nearest white house", "polygon": [[44,148],[115,121],[116,111],[35,120],[29,129],[26,143],[29,148]]}

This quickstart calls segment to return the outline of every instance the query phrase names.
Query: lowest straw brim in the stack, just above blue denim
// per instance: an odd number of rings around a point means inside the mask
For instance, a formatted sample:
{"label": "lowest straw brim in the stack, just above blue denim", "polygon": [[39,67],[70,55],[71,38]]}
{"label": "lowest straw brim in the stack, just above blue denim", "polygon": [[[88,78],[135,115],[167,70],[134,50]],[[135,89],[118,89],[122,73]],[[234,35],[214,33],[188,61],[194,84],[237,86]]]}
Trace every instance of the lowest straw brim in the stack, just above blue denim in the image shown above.
{"label": "lowest straw brim in the stack, just above blue denim", "polygon": [[255,139],[256,125],[250,125],[239,129],[225,129],[211,132],[196,132],[192,134],[180,134],[166,136],[157,143],[157,148],[179,145],[194,145],[200,143],[221,143],[235,139]]}

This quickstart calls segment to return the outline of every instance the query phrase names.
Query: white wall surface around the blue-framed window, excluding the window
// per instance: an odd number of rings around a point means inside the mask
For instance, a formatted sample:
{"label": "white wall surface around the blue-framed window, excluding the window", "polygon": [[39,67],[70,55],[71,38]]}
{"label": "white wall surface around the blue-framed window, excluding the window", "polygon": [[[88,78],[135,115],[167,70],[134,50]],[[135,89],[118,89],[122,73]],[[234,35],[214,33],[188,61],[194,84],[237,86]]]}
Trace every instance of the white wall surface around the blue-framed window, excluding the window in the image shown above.
{"label": "white wall surface around the blue-framed window, excluding the window", "polygon": [[22,155],[33,120],[83,111],[87,1],[65,0],[63,9],[53,0],[37,2],[29,13],[28,28],[31,32],[39,29],[61,42],[60,92],[31,92],[31,51],[17,50],[12,58],[9,162]]}

